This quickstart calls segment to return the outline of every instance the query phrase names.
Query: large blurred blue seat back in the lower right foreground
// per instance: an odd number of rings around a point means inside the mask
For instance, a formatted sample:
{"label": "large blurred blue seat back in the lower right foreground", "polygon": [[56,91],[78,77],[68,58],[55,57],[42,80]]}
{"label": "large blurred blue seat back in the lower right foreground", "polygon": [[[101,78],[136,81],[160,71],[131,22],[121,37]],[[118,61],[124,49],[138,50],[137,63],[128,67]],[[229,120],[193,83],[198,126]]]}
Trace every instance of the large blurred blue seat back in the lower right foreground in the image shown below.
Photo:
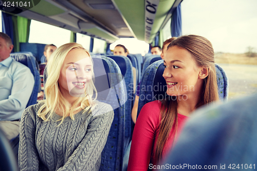
{"label": "large blurred blue seat back in the lower right foreground", "polygon": [[256,94],[197,110],[163,163],[184,170],[256,170],[256,111]]}

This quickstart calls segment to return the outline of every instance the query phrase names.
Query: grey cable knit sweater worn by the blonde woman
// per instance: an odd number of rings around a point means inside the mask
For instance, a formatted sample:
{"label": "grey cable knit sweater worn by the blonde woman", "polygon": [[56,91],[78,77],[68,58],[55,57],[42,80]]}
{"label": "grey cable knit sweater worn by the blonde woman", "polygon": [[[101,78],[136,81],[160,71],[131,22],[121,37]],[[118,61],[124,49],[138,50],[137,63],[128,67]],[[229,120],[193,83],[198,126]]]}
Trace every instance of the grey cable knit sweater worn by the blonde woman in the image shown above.
{"label": "grey cable knit sweater worn by the blonde woman", "polygon": [[36,113],[39,104],[29,106],[20,126],[20,170],[99,170],[101,152],[111,128],[111,105],[97,102],[89,114],[83,111],[57,126],[61,117],[54,114],[43,122]]}

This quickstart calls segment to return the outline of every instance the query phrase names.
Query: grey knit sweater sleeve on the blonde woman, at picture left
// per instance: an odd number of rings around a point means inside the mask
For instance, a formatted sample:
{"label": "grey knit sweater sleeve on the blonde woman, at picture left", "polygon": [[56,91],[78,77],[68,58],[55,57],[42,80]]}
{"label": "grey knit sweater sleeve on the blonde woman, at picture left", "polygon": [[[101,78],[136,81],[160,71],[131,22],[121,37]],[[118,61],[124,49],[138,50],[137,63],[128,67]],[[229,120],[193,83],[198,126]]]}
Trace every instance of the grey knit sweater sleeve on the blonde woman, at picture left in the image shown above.
{"label": "grey knit sweater sleeve on the blonde woman, at picture left", "polygon": [[19,167],[21,171],[39,170],[39,156],[35,146],[36,114],[33,106],[26,108],[21,118],[19,142]]}

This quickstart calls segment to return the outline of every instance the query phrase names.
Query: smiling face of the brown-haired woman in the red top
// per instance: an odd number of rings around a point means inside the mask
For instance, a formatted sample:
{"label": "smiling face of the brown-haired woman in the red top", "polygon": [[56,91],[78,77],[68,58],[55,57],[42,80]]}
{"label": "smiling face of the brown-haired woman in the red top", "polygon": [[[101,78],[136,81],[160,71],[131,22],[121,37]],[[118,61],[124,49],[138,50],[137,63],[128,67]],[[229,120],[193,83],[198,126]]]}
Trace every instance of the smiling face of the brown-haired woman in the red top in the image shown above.
{"label": "smiling face of the brown-haired woman in the red top", "polygon": [[169,48],[164,57],[163,77],[170,96],[199,92],[203,80],[199,79],[201,68],[196,65],[191,53],[181,47]]}

